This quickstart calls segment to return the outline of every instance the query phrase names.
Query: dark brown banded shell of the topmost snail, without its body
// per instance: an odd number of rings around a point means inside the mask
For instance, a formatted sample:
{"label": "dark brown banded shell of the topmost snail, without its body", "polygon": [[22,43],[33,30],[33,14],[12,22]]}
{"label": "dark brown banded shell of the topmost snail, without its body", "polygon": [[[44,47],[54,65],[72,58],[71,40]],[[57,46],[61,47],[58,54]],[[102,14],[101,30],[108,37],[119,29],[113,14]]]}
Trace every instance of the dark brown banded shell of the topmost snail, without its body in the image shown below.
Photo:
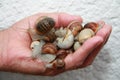
{"label": "dark brown banded shell of the topmost snail, without its body", "polygon": [[50,17],[41,17],[36,24],[36,31],[39,35],[48,33],[54,26],[55,21]]}

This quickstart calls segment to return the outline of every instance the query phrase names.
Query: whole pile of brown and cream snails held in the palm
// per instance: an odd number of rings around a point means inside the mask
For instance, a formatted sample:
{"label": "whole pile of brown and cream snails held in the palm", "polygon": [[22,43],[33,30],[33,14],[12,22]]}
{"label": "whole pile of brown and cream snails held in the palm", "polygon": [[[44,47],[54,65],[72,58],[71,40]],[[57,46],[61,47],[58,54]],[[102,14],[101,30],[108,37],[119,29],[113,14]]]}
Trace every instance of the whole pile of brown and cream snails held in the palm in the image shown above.
{"label": "whole pile of brown and cream snails held in the palm", "polygon": [[55,28],[53,18],[42,16],[34,28],[28,29],[32,39],[31,57],[42,60],[46,69],[61,69],[65,67],[65,57],[80,48],[102,26],[96,22],[89,22],[83,27],[75,20],[67,27]]}

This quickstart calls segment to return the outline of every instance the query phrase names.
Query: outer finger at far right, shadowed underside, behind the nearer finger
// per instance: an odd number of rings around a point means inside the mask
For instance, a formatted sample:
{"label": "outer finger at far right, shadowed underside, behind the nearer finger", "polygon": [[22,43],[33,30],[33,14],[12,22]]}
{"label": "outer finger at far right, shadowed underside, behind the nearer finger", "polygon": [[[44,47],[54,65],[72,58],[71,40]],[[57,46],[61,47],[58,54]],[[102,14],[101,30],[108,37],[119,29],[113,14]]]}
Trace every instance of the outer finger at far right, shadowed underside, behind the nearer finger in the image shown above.
{"label": "outer finger at far right, shadowed underside, behind the nearer finger", "polygon": [[95,57],[98,55],[98,53],[101,50],[101,48],[103,47],[103,45],[107,42],[107,40],[111,34],[111,31],[112,31],[112,27],[107,24],[104,25],[100,31],[98,31],[98,33],[96,35],[102,37],[104,41],[97,48],[95,48],[91,52],[91,54],[89,54],[89,56],[86,58],[84,63],[80,66],[81,68],[92,64],[92,62],[94,61]]}

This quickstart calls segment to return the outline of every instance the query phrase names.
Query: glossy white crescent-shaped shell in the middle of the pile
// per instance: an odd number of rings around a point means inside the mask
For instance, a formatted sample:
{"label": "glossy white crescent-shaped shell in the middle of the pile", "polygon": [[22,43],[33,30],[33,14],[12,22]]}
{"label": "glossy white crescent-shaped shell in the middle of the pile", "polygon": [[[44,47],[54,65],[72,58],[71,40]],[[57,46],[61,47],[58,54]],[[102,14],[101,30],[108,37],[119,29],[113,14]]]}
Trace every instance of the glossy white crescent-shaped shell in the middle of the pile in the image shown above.
{"label": "glossy white crescent-shaped shell in the middle of the pile", "polygon": [[71,30],[67,30],[67,33],[63,37],[57,38],[57,46],[61,49],[68,49],[74,43],[74,36]]}

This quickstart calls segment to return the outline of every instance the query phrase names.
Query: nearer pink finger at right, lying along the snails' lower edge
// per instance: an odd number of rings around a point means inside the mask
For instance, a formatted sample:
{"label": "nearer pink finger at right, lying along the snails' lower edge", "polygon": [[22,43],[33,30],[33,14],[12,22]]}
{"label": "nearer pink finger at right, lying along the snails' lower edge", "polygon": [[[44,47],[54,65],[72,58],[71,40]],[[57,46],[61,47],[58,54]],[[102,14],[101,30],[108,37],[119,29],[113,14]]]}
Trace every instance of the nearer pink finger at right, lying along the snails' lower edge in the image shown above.
{"label": "nearer pink finger at right, lying along the snails' lower edge", "polygon": [[74,54],[70,54],[65,58],[66,69],[80,66],[89,53],[102,41],[102,38],[99,36],[88,39]]}

